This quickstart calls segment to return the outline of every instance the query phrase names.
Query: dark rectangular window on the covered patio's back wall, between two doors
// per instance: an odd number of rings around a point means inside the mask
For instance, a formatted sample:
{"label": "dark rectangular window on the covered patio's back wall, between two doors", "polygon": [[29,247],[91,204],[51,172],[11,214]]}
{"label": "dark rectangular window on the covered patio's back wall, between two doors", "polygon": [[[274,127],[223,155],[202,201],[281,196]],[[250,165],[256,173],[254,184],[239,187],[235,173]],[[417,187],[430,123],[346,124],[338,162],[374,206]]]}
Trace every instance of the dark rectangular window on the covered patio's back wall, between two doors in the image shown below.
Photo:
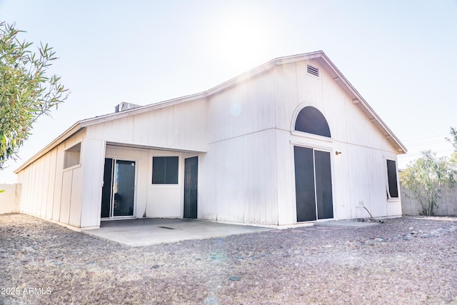
{"label": "dark rectangular window on the covered patio's back wall, between two doors", "polygon": [[179,157],[152,157],[152,184],[178,184]]}

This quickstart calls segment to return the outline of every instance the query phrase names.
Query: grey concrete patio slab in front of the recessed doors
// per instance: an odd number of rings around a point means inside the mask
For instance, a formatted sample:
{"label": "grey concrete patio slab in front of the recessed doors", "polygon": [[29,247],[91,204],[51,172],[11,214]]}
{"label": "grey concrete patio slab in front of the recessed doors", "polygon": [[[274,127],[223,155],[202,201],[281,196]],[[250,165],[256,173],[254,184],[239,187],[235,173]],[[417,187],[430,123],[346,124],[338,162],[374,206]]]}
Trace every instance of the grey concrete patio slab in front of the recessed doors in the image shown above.
{"label": "grey concrete patio slab in front of the recessed doors", "polygon": [[83,232],[128,246],[150,246],[268,230],[271,228],[221,224],[197,219],[129,219],[102,221],[99,229],[88,229]]}

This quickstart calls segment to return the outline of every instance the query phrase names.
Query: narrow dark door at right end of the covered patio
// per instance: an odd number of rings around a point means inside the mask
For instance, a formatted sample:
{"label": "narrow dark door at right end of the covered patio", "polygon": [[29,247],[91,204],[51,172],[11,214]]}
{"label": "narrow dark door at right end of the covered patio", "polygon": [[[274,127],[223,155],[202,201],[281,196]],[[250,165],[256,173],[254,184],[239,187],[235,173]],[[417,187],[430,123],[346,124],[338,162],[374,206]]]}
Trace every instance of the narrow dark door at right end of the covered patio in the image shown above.
{"label": "narrow dark door at right end of the covered patio", "polygon": [[184,159],[184,218],[197,218],[199,157]]}

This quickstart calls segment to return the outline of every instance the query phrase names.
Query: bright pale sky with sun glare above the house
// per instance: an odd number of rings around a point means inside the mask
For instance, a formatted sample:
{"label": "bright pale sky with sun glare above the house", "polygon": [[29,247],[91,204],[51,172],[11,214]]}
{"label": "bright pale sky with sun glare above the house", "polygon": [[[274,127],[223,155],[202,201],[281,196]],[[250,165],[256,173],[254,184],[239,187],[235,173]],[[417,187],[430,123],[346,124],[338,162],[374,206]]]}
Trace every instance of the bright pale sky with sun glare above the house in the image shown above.
{"label": "bright pale sky with sun glare above the house", "polygon": [[457,126],[457,0],[0,0],[19,38],[54,47],[71,94],[36,122],[0,183],[81,119],[126,101],[211,89],[281,56],[322,50],[408,148],[449,156]]}

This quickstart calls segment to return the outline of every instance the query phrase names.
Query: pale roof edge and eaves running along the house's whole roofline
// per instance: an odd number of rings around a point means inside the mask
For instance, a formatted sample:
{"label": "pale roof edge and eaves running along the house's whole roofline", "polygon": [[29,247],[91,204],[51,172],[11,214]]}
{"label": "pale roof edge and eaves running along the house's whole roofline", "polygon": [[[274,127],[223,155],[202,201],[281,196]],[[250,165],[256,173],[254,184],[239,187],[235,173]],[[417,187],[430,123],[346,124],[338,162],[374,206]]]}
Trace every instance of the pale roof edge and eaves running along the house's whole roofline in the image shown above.
{"label": "pale roof edge and eaves running along the house's whole roofline", "polygon": [[306,53],[306,54],[298,54],[298,55],[292,55],[292,56],[284,56],[284,57],[278,57],[276,59],[273,59],[271,61],[268,61],[266,64],[262,64],[261,66],[258,66],[250,71],[247,71],[246,73],[243,73],[239,76],[236,76],[233,79],[230,79],[229,81],[224,82],[223,84],[220,84],[219,86],[215,86],[212,89],[209,89],[208,91],[201,92],[199,94],[193,94],[189,96],[182,96],[177,99],[170,99],[168,101],[161,101],[159,103],[154,103],[154,104],[149,104],[146,106],[140,106],[135,109],[130,109],[126,111],[121,111],[121,112],[116,112],[113,114],[106,114],[104,116],[96,116],[91,119],[84,119],[81,121],[77,121],[73,126],[71,126],[69,129],[64,131],[63,134],[61,134],[59,137],[54,139],[49,145],[47,145],[44,149],[41,149],[37,154],[35,154],[31,159],[26,161],[24,164],[22,164],[19,169],[16,169],[14,171],[15,173],[21,171],[21,169],[24,169],[26,166],[29,166],[33,161],[36,159],[39,159],[41,156],[46,154],[48,151],[51,151],[51,149],[54,149],[56,146],[61,144],[63,141],[68,139],[70,136],[75,134],[77,131],[80,131],[81,129],[86,128],[87,126],[99,124],[99,123],[104,123],[106,121],[112,121],[115,119],[121,119],[126,116],[132,116],[135,114],[142,114],[147,111],[155,110],[155,109],[161,109],[164,107],[176,105],[176,104],[181,104],[185,103],[186,101],[193,101],[196,99],[201,99],[201,98],[206,98],[207,96],[211,96],[213,94],[216,94],[220,91],[224,91],[226,89],[229,89],[231,86],[234,86],[238,84],[241,81],[245,81],[246,79],[250,79],[253,76],[256,76],[258,74],[261,74],[265,71],[269,71],[274,68],[274,66],[279,66],[281,64],[289,64],[297,61],[304,61],[304,60],[316,60],[318,61],[321,66],[328,72],[328,74],[331,75],[334,81],[341,86],[341,88],[346,91],[346,93],[351,96],[351,99],[353,101],[353,104],[356,104],[365,114],[368,116],[368,119],[370,119],[373,124],[378,126],[378,128],[381,130],[382,134],[388,139],[388,141],[393,144],[393,146],[396,148],[396,151],[398,154],[406,154],[406,146],[404,146],[401,141],[393,134],[391,129],[388,128],[388,126],[381,120],[381,118],[376,114],[376,112],[371,108],[371,106],[368,105],[368,103],[363,99],[363,97],[358,93],[358,91],[349,83],[349,81],[346,79],[346,77],[343,76],[343,74],[336,68],[336,66],[331,62],[330,59],[326,56],[323,51],[314,51],[311,53]]}

